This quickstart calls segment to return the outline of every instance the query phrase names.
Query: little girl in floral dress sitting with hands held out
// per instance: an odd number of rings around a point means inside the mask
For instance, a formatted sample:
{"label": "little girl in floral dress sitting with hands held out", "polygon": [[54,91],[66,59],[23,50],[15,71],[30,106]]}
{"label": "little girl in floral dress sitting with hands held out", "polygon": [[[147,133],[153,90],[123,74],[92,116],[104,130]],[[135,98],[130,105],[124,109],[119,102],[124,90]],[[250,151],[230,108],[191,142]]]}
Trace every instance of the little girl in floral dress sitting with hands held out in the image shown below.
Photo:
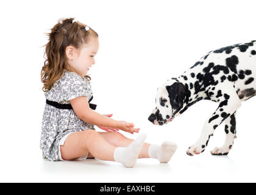
{"label": "little girl in floral dress sitting with hands held out", "polygon": [[[98,34],[74,18],[60,19],[51,29],[46,44],[46,60],[41,81],[46,97],[40,148],[51,161],[98,158],[118,161],[133,167],[137,158],[157,158],[167,163],[176,144],[169,141],[144,143],[146,135],[136,140],[124,137],[118,130],[138,133],[132,122],[115,121],[112,115],[95,112],[89,68],[99,49]],[[106,132],[96,132],[94,126]]]}

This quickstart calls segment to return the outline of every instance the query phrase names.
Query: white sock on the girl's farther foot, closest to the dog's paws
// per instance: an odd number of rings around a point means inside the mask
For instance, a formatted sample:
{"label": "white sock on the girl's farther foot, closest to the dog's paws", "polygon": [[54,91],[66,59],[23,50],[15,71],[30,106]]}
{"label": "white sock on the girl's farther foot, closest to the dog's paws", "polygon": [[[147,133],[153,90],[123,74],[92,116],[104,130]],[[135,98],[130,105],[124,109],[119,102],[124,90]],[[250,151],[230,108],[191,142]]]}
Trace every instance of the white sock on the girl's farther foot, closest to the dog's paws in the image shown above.
{"label": "white sock on the girl's farther foot, closest to the dog's paws", "polygon": [[148,154],[150,158],[157,158],[160,163],[168,163],[176,149],[176,143],[164,141],[161,146],[151,144],[148,149]]}

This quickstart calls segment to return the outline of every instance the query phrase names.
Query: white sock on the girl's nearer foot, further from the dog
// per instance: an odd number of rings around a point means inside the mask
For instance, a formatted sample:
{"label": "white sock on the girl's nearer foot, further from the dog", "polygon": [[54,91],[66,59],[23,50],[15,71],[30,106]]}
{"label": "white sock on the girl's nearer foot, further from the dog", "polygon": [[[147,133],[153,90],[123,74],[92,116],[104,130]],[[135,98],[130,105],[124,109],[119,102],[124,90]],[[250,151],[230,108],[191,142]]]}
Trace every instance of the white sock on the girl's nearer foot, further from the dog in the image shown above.
{"label": "white sock on the girl's nearer foot, further from the dog", "polygon": [[143,133],[128,147],[116,147],[114,152],[115,161],[122,163],[126,167],[135,166],[145,139],[146,134]]}

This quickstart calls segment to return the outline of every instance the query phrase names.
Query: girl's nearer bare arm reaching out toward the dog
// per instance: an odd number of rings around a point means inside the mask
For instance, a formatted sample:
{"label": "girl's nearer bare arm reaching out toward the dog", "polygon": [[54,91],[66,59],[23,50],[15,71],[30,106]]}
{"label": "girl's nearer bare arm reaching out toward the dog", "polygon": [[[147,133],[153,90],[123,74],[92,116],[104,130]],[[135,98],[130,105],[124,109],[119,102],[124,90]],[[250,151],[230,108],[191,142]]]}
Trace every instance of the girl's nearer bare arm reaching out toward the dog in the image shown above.
{"label": "girl's nearer bare arm reaching out toward the dog", "polygon": [[114,119],[108,118],[107,116],[101,115],[98,112],[94,112],[94,110],[91,110],[89,107],[87,98],[84,96],[71,99],[69,102],[72,105],[76,115],[82,121],[89,124],[118,128],[126,132],[138,132],[138,130],[140,130],[138,128],[133,128],[134,124],[132,122],[116,121]]}

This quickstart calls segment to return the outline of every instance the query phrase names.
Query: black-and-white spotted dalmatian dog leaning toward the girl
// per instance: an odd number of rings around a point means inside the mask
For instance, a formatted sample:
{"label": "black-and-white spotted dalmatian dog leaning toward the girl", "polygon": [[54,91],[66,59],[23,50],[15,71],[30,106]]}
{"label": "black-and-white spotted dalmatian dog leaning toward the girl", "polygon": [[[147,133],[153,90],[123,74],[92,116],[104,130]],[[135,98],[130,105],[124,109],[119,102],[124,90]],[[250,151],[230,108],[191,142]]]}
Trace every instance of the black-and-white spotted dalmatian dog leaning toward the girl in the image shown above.
{"label": "black-and-white spotted dalmatian dog leaning toward the girl", "polygon": [[201,154],[215,129],[225,122],[226,141],[212,155],[227,155],[236,138],[236,110],[256,94],[256,41],[234,44],[205,54],[181,76],[167,80],[157,90],[149,121],[162,126],[202,99],[218,102],[205,121],[201,137],[187,154]]}

